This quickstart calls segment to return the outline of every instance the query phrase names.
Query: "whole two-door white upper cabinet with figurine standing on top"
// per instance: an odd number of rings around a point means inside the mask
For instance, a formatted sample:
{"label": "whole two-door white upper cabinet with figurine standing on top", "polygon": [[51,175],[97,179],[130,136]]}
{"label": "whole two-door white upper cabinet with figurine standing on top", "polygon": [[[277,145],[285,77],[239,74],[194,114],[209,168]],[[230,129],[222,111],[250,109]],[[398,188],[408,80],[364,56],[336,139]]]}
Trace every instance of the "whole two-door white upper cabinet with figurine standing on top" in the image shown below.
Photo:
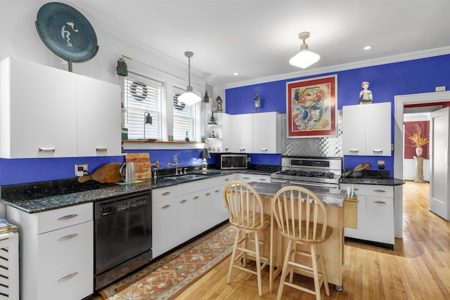
{"label": "whole two-door white upper cabinet with figurine standing on top", "polygon": [[344,155],[391,155],[391,103],[342,107]]}

